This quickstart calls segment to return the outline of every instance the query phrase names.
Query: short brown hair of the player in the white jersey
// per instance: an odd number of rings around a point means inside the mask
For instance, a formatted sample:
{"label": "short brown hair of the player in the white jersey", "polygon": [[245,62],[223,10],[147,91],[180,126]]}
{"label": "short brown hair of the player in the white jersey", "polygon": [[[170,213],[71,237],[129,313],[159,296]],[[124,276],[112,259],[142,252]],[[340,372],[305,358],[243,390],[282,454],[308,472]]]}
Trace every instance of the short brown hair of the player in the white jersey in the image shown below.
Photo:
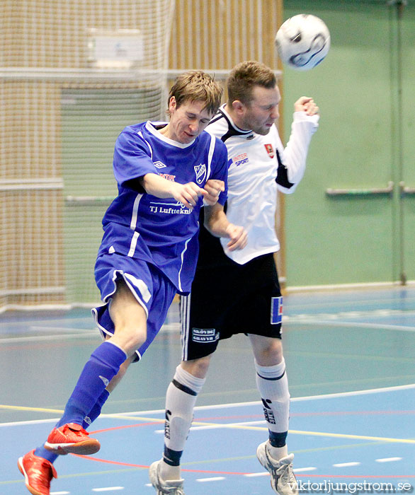
{"label": "short brown hair of the player in the white jersey", "polygon": [[277,78],[274,72],[265,64],[248,60],[234,66],[227,78],[228,105],[239,100],[244,105],[251,103],[254,86],[275,88]]}

